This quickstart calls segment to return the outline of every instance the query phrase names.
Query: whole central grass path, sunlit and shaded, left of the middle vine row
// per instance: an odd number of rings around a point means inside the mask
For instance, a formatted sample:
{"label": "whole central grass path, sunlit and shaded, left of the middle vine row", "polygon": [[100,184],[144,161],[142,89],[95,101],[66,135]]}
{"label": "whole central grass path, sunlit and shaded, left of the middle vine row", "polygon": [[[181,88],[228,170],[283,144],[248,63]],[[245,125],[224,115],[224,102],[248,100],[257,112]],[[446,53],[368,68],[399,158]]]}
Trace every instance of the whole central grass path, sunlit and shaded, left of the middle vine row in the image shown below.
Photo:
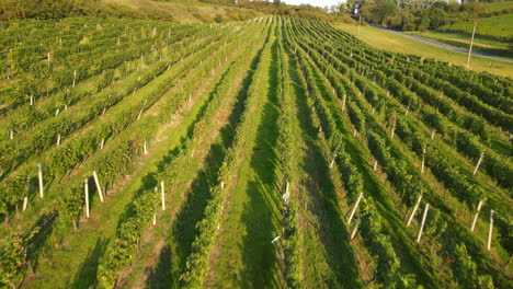
{"label": "whole central grass path, sunlit and shaded, left of the middle vine row", "polygon": [[[216,242],[207,287],[266,288],[278,287],[276,247],[271,240],[280,234],[280,195],[277,193],[278,137],[276,106],[276,58],[271,51],[275,37],[263,50],[254,77],[259,85],[260,107],[247,130],[247,144],[229,184],[225,220]],[[274,49],[274,48],[273,48]]]}

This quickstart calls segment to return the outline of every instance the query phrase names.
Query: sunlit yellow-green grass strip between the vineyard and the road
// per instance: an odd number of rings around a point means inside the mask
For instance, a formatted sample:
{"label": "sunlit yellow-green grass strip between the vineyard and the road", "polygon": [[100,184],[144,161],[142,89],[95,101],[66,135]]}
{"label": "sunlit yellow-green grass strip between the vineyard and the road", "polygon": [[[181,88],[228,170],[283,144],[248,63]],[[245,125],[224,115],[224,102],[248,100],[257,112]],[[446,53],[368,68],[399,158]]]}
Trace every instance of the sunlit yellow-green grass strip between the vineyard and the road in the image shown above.
{"label": "sunlit yellow-green grass strip between the vineyard and the road", "polygon": [[[464,54],[419,43],[401,35],[388,33],[375,27],[362,26],[360,35],[357,26],[335,24],[335,27],[352,34],[361,41],[379,49],[434,58],[460,67],[465,67],[467,63],[467,56]],[[470,60],[470,69],[476,71],[487,71],[503,77],[513,77],[513,63],[486,59],[477,56],[474,56]]]}

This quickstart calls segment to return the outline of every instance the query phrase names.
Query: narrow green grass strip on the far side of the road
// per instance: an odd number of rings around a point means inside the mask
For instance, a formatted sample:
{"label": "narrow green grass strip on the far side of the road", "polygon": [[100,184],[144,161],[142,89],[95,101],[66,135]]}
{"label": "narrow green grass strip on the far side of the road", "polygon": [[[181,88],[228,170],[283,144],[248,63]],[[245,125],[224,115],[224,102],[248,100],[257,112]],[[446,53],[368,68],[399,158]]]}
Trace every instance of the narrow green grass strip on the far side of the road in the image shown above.
{"label": "narrow green grass strip on the far side of the road", "polygon": [[[459,33],[449,32],[406,32],[408,34],[423,37],[430,41],[451,45],[456,48],[468,49],[470,46],[470,37]],[[499,56],[513,59],[513,46],[505,42],[486,39],[480,37],[474,38],[472,51],[483,55]]]}

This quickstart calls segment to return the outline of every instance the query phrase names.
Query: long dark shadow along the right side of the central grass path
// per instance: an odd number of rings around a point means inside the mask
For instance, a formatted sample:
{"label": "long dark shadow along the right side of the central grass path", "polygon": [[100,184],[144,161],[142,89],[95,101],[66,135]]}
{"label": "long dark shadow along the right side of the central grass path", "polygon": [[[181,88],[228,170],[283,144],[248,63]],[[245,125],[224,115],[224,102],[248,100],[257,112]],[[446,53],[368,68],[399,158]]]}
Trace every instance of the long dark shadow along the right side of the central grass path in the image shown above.
{"label": "long dark shadow along the right side of the central grass path", "polygon": [[250,165],[255,173],[255,181],[248,183],[246,194],[249,200],[242,212],[242,223],[246,228],[242,252],[243,268],[238,281],[241,288],[280,287],[280,279],[273,273],[276,262],[276,248],[271,240],[278,232],[280,193],[276,176],[277,146],[280,130],[278,70],[277,43],[271,47],[271,66],[269,70],[267,101],[263,107],[261,123],[258,128],[255,147],[252,151]]}

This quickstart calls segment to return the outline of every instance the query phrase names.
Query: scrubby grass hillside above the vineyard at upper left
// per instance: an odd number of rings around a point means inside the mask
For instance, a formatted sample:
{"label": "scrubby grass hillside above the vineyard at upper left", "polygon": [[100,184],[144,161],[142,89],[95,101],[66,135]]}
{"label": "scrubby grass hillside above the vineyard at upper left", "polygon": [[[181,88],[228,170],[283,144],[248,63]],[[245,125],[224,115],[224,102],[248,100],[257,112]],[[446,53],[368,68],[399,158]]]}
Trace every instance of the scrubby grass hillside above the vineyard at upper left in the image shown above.
{"label": "scrubby grass hillside above the vineyard at upper left", "polygon": [[183,23],[214,23],[252,19],[263,13],[254,9],[197,0],[64,0],[0,2],[0,21],[9,19],[61,19],[66,16],[114,16],[134,19],[159,19]]}

